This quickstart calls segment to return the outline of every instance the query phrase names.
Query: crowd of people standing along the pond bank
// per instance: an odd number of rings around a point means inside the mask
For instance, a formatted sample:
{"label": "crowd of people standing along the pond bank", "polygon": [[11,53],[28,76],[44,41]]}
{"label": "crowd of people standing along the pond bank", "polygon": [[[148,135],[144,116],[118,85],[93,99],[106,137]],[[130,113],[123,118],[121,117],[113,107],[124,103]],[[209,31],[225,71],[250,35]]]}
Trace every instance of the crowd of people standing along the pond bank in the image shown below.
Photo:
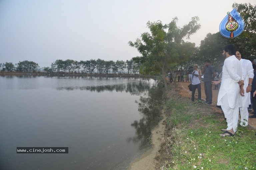
{"label": "crowd of people standing along the pond bank", "polygon": [[[191,100],[195,101],[195,91],[198,91],[198,101],[201,100],[201,80],[204,75],[205,104],[212,104],[212,89],[219,90],[217,105],[221,107],[227,121],[227,128],[221,129],[221,136],[233,136],[238,127],[238,123],[246,127],[249,118],[256,118],[256,64],[247,59],[242,59],[240,51],[233,44],[228,44],[223,48],[223,57],[225,58],[220,74],[211,65],[209,59],[204,61],[202,70],[197,64],[189,67],[186,81],[192,84]],[[184,82],[183,70],[178,73],[178,82]],[[170,82],[173,81],[169,74]],[[219,87],[220,84],[220,87]],[[252,106],[253,115],[249,116],[248,110]],[[240,120],[239,120],[240,113]]]}

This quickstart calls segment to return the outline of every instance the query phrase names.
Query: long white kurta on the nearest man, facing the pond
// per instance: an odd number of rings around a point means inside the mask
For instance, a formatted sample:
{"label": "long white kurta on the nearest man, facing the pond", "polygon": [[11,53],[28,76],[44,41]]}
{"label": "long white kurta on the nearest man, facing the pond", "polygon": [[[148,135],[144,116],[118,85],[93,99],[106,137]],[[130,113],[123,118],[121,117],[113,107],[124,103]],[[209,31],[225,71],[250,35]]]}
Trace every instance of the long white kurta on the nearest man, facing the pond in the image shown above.
{"label": "long white kurta on the nearest man, facing the pond", "polygon": [[[244,80],[242,77],[242,67],[239,60],[232,55],[225,59],[222,68],[221,86],[218,94],[217,105],[229,105],[231,109],[242,106],[240,88],[238,82]],[[228,101],[222,100],[227,94]]]}

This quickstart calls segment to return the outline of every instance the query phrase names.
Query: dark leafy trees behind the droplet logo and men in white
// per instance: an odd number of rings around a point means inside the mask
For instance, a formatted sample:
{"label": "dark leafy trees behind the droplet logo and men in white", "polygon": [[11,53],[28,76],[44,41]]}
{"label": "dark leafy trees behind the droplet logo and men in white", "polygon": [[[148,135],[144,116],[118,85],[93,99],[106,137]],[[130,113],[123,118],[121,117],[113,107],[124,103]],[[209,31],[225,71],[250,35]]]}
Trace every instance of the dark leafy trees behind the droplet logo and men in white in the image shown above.
{"label": "dark leafy trees behind the droplet logo and men in white", "polygon": [[210,59],[215,67],[221,69],[223,64],[222,52],[223,47],[227,44],[234,44],[241,52],[244,59],[253,60],[256,55],[256,6],[249,4],[234,3],[245,23],[244,31],[237,37],[230,39],[223,37],[219,32],[215,34],[208,33],[199,47],[200,58]]}

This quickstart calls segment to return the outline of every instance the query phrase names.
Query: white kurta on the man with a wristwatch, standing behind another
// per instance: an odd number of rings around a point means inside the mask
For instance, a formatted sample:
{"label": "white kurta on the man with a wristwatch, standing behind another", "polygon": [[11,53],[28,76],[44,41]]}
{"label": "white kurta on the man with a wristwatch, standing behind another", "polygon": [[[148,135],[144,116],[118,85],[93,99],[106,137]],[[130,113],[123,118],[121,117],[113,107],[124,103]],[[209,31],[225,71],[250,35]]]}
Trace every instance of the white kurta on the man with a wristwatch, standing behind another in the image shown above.
{"label": "white kurta on the man with a wristwatch, standing behind another", "polygon": [[244,77],[244,96],[242,97],[242,107],[249,107],[251,104],[251,92],[246,93],[246,88],[249,84],[249,78],[253,78],[253,68],[252,68],[252,62],[250,60],[246,59],[240,59],[241,65],[242,65],[242,75]]}

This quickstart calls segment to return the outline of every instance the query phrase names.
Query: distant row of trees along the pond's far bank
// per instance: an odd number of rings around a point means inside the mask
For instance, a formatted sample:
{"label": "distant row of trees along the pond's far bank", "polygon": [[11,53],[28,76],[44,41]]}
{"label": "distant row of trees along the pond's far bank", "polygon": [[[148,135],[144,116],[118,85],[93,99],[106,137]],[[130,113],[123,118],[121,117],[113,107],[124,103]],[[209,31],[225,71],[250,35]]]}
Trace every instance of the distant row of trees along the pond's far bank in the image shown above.
{"label": "distant row of trees along the pond's far bank", "polygon": [[[0,63],[2,71],[17,72],[40,72],[40,67],[33,61],[20,61],[17,64],[12,62]],[[90,59],[86,61],[75,61],[72,59],[58,59],[51,64],[51,67],[43,67],[42,72],[47,73],[77,73],[77,74],[138,74],[139,63],[130,60],[105,61],[102,59]]]}

